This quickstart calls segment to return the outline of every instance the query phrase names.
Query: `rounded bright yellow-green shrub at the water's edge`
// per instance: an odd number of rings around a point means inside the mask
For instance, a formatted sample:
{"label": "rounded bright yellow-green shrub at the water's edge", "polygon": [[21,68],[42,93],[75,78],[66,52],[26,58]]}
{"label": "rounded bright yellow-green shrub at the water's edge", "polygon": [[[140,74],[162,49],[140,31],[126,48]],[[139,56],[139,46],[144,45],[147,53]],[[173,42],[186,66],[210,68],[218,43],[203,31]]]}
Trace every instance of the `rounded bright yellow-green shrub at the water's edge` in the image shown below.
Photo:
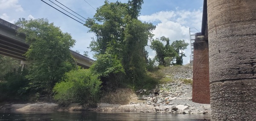
{"label": "rounded bright yellow-green shrub at the water's edge", "polygon": [[53,88],[54,99],[59,104],[97,104],[102,82],[89,69],[72,70],[67,72],[63,79],[64,81],[57,83]]}

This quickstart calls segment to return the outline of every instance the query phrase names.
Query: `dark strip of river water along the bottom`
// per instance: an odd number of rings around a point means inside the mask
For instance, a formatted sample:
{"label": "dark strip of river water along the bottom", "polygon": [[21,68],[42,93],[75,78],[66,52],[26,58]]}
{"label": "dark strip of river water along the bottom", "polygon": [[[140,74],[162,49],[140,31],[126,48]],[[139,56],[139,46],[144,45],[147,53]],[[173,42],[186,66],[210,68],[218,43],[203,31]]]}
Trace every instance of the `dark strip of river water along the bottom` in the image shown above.
{"label": "dark strip of river water along the bottom", "polygon": [[210,115],[90,111],[0,112],[0,121],[210,121]]}

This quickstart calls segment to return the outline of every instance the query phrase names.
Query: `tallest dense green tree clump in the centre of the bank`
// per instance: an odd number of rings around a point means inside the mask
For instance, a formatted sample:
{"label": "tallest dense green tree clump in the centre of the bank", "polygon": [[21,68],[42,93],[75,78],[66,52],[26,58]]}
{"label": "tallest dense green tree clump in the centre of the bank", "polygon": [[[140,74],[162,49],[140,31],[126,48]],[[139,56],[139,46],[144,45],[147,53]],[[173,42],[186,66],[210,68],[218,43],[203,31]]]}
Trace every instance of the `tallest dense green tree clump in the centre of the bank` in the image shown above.
{"label": "tallest dense green tree clump in the centre of the bank", "polygon": [[96,34],[90,43],[97,58],[93,71],[103,82],[115,80],[114,85],[118,86],[125,80],[136,85],[145,78],[145,46],[152,38],[151,31],[155,26],[137,19],[142,4],[143,0],[129,0],[128,3],[105,1],[94,17],[86,21],[85,26]]}

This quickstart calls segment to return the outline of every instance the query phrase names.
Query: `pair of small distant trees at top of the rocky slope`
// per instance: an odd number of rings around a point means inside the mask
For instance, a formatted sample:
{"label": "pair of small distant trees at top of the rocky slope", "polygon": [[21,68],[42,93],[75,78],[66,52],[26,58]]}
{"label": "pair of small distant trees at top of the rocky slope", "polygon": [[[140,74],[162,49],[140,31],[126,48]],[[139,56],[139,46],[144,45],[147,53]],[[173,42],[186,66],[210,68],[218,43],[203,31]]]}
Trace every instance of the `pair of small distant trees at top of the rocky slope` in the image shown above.
{"label": "pair of small distant trees at top of the rocky slope", "polygon": [[[160,40],[166,42],[166,45],[164,46]],[[185,43],[184,40],[176,40],[170,45],[169,41],[169,38],[164,36],[152,40],[150,47],[156,51],[155,60],[163,66],[182,65],[183,57],[186,57],[183,51],[189,43]]]}

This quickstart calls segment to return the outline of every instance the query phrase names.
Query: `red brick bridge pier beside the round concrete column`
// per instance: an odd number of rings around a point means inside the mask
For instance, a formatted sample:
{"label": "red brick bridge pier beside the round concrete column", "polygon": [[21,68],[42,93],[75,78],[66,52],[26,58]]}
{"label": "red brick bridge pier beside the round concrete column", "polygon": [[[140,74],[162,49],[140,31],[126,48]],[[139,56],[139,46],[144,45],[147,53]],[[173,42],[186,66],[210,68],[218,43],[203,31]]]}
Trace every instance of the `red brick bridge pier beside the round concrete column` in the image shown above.
{"label": "red brick bridge pier beside the round concrete column", "polygon": [[194,43],[192,101],[210,104],[208,41]]}

